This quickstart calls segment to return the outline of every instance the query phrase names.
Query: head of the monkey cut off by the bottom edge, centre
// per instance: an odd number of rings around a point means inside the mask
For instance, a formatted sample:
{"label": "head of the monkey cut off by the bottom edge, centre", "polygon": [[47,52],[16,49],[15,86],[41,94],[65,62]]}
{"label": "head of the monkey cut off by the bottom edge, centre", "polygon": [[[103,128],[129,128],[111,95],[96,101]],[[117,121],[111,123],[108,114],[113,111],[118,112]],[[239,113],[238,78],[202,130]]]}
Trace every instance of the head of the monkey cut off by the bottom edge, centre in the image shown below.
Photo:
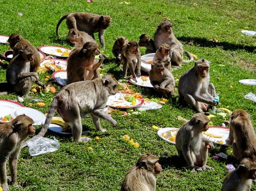
{"label": "head of the monkey cut off by the bottom edge, centre", "polygon": [[151,153],[146,153],[139,157],[136,166],[140,169],[146,169],[156,175],[163,170],[158,161],[158,157]]}

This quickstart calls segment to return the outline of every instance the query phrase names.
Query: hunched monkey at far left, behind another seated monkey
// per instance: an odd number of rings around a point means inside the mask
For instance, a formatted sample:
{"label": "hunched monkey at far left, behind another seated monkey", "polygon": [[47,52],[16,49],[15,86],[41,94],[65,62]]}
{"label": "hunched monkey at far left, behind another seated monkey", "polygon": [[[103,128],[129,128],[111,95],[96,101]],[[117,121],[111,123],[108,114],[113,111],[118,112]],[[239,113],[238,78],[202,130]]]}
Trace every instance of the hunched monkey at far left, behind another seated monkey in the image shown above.
{"label": "hunched monkey at far left, behind another seated monkey", "polygon": [[3,55],[0,56],[0,59],[10,62],[16,55],[19,54],[19,50],[23,50],[26,47],[29,47],[33,53],[32,60],[30,61],[30,71],[29,72],[37,72],[37,69],[40,65],[41,59],[40,54],[28,40],[24,39],[21,34],[12,33],[8,39],[8,43],[10,44],[10,48],[13,51],[13,57],[7,58]]}

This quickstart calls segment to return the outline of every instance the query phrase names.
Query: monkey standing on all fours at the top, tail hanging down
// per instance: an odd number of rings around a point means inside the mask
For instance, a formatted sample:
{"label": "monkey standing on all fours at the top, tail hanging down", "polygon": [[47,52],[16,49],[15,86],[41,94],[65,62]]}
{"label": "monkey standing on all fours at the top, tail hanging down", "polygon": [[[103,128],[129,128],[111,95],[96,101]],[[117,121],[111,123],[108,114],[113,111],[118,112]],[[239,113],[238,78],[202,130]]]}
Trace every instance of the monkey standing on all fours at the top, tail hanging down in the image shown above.
{"label": "monkey standing on all fours at the top, tail hanging down", "polygon": [[59,25],[62,21],[66,19],[66,25],[68,29],[78,29],[79,31],[84,31],[88,33],[93,39],[95,39],[94,34],[98,32],[98,37],[100,44],[103,49],[105,49],[104,32],[105,29],[110,25],[112,18],[108,15],[97,15],[87,12],[73,12],[64,15],[60,18],[57,27],[56,34],[59,36]]}

